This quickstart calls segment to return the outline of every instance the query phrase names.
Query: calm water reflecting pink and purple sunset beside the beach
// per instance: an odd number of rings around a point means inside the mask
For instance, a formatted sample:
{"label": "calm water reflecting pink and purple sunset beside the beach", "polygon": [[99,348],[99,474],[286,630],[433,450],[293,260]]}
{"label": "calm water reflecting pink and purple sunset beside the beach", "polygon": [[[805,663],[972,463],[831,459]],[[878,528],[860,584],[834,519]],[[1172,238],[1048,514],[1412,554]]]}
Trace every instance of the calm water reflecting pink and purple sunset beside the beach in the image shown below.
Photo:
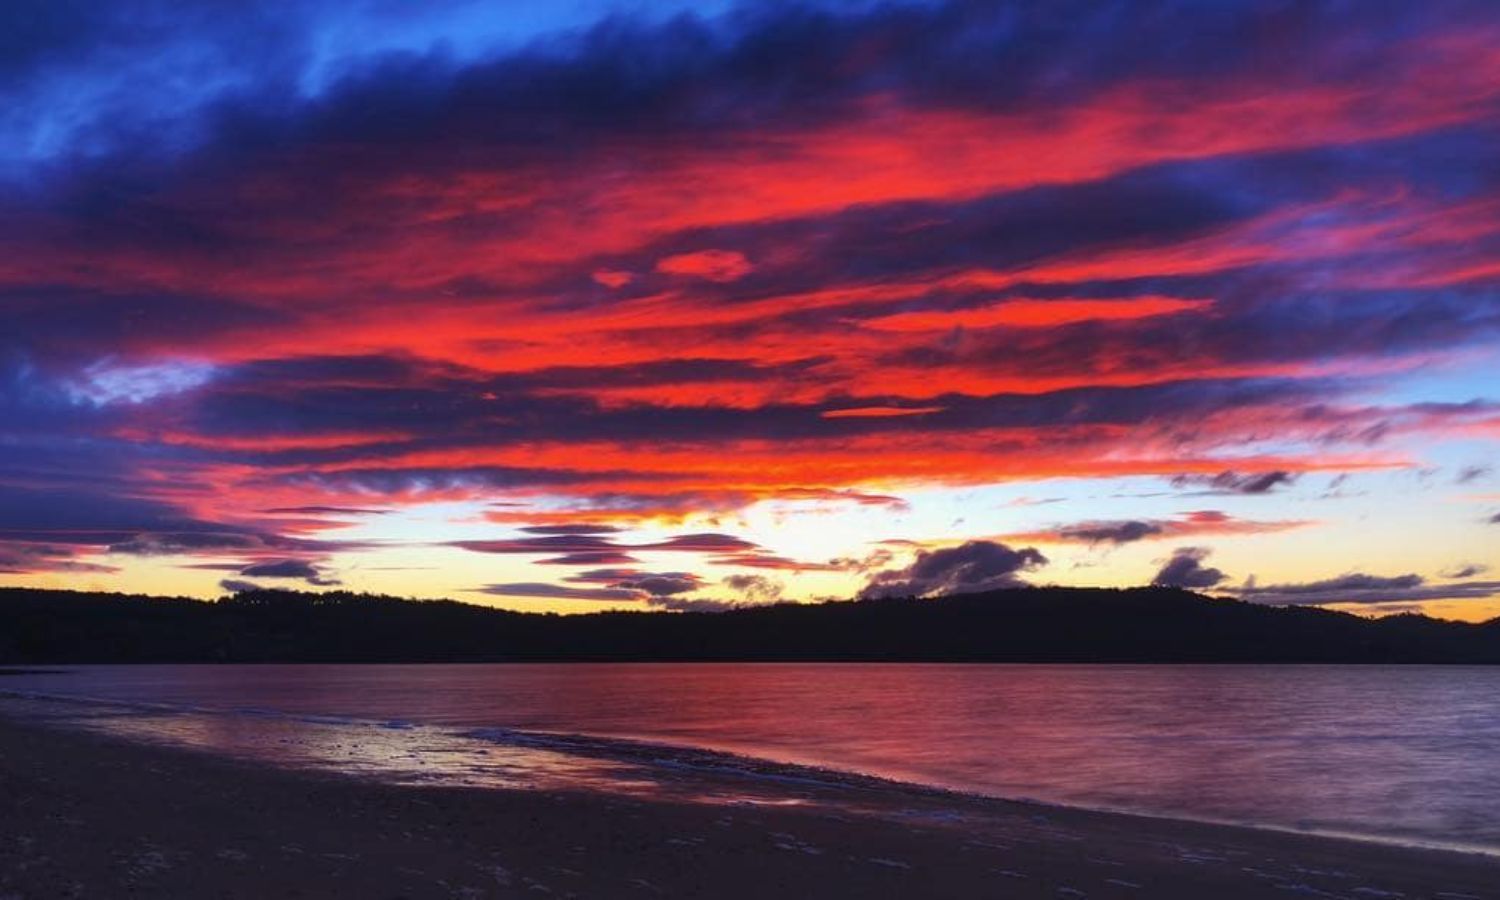
{"label": "calm water reflecting pink and purple sunset beside the beach", "polygon": [[[658,750],[525,736],[592,735],[996,796],[1500,850],[1500,668],[84,666],[10,675],[0,692],[153,704],[96,718],[351,771],[669,780],[646,771]],[[350,720],[378,728],[356,740],[339,730]]]}

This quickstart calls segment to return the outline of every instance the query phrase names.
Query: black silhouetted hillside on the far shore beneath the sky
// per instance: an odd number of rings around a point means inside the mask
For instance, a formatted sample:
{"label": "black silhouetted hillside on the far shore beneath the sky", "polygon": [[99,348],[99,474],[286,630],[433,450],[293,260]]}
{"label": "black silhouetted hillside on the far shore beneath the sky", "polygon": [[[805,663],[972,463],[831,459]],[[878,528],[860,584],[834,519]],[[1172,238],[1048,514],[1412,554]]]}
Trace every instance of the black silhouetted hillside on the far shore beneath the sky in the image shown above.
{"label": "black silhouetted hillside on the far shore beneath the sky", "polygon": [[580,616],[348,592],[0,590],[0,663],[480,660],[1500,663],[1500,620],[1364,620],[1167,588]]}

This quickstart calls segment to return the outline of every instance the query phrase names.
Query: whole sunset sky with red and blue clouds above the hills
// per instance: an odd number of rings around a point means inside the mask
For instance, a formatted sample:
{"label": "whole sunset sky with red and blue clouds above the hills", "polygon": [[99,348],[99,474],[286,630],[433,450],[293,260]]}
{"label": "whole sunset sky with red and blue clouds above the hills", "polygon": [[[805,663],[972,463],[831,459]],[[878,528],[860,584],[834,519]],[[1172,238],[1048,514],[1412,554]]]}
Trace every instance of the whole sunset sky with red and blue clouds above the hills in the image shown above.
{"label": "whole sunset sky with red and blue clouds above the hills", "polygon": [[1500,615],[1486,0],[10,0],[0,98],[0,585]]}

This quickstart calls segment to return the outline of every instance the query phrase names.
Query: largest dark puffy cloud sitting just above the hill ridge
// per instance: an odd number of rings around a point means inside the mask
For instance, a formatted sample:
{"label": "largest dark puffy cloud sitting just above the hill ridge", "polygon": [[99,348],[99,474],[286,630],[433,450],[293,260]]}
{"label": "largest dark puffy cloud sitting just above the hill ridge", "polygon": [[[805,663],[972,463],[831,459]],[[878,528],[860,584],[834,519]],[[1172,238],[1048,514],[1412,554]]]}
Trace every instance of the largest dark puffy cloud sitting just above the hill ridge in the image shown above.
{"label": "largest dark puffy cloud sitting just above the hill ridge", "polygon": [[918,550],[906,568],[876,573],[860,591],[861,600],[879,597],[932,597],[1017,588],[1023,572],[1047,564],[1034,548],[1011,549],[988,540],[956,548]]}

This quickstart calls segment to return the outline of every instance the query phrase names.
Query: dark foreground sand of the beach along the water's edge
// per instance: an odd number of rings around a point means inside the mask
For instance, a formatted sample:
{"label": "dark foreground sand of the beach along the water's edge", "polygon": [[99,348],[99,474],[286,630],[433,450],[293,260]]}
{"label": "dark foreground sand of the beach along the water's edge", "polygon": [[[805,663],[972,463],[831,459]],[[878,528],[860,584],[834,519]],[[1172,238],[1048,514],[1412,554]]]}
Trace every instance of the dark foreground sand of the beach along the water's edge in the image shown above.
{"label": "dark foreground sand of the beach along the water's edge", "polygon": [[786,792],[804,806],[382,786],[0,718],[0,900],[1500,898],[1490,856],[922,792]]}

